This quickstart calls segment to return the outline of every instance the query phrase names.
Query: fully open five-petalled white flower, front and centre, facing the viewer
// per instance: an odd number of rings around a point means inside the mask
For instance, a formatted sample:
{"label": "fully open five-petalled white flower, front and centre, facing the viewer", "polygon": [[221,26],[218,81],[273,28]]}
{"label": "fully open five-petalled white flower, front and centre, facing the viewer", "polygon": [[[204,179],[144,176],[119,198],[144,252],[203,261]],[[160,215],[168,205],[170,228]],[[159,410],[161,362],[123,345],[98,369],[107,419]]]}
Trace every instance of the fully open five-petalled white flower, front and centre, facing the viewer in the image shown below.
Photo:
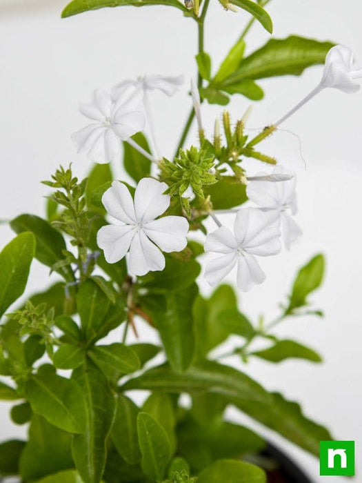
{"label": "fully open five-petalled white flower, front and centre, facing the viewer", "polygon": [[129,252],[130,272],[145,275],[165,268],[161,250],[170,253],[185,248],[188,221],[178,216],[156,219],[170,205],[170,196],[163,195],[167,188],[167,184],[156,179],[143,178],[137,185],[133,200],[125,184],[112,182],[102,202],[119,223],[102,226],[97,233],[97,244],[104,250],[108,263],[119,262]]}

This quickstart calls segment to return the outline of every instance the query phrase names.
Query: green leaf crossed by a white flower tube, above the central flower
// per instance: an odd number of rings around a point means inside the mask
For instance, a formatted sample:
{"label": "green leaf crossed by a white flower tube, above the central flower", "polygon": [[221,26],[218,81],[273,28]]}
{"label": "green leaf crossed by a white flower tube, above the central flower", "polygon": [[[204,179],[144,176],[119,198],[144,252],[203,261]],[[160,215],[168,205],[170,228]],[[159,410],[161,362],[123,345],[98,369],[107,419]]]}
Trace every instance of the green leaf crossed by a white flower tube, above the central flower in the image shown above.
{"label": "green leaf crossed by a white flower tube, above the central flower", "polygon": [[[145,136],[142,134],[142,132],[137,132],[137,134],[132,136],[132,139],[137,142],[141,148],[147,152],[151,152],[147,139],[145,139]],[[138,183],[140,179],[150,176],[150,159],[141,155],[141,152],[137,151],[126,142],[123,143],[123,166],[128,172],[128,175],[130,175],[130,177],[133,178],[136,183]]]}

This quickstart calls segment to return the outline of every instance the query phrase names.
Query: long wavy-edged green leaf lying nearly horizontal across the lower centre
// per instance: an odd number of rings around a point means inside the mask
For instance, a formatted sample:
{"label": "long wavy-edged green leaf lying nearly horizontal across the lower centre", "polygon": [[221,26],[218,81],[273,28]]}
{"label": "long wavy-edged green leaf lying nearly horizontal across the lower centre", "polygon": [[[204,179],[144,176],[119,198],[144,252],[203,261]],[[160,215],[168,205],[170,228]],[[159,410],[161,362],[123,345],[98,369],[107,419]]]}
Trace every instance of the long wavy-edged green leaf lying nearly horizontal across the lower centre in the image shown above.
{"label": "long wavy-edged green leaf lying nearly horizontal across the lower centre", "polygon": [[175,373],[167,366],[158,366],[129,380],[124,391],[144,389],[166,393],[200,394],[205,391],[223,395],[227,399],[270,401],[270,395],[250,377],[229,366],[214,361],[200,361],[184,373]]}

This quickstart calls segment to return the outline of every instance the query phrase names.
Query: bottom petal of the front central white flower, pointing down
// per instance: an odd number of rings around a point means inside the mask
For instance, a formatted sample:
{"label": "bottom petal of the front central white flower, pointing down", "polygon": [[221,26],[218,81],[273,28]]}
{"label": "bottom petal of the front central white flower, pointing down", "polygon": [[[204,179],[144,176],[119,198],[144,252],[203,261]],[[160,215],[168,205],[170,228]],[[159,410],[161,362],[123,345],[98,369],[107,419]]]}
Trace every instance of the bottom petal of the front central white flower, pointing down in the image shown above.
{"label": "bottom petal of the front central white flower, pointing down", "polygon": [[132,240],[128,268],[139,276],[165,268],[165,257],[161,250],[146,237],[143,230],[139,230]]}

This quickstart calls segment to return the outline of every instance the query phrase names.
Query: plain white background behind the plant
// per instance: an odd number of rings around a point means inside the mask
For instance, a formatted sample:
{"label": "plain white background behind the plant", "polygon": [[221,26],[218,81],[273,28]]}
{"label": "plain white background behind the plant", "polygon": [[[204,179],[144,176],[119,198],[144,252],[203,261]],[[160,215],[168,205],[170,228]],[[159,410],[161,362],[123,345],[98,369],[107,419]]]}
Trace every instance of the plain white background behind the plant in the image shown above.
{"label": "plain white background behind the plant", "polygon": [[[248,15],[224,12],[212,0],[205,49],[214,65],[239,36]],[[148,73],[189,78],[194,73],[196,29],[190,19],[170,8],[117,8],[60,19],[59,0],[0,1],[0,218],[19,213],[44,213],[48,179],[59,165],[74,163],[83,175],[88,160],[76,155],[70,134],[83,127],[77,103],[87,101],[94,88],[112,86],[128,77]],[[274,35],[290,33],[318,37],[350,46],[362,65],[361,2],[348,0],[273,0],[268,10]],[[256,25],[250,34],[251,50],[268,39]],[[262,81],[267,93],[256,103],[250,126],[261,128],[283,115],[311,90],[321,76],[316,67],[301,77]],[[188,86],[172,99],[152,97],[160,144],[170,155],[190,109]],[[248,101],[235,96],[230,106],[234,119]],[[285,123],[293,135],[279,132],[268,141],[281,163],[298,171],[299,215],[304,236],[290,253],[263,259],[268,275],[263,286],[241,297],[245,313],[254,317],[277,315],[296,268],[315,253],[328,259],[323,288],[312,299],[325,319],[291,319],[278,328],[283,337],[295,337],[319,350],[321,365],[285,362],[279,366],[253,361],[246,369],[270,389],[277,389],[303,404],[305,413],[328,425],[338,440],[356,441],[357,470],[361,471],[361,129],[362,92],[345,95],[328,90]],[[205,106],[205,126],[211,129],[219,108]],[[196,141],[193,133],[190,142]],[[266,146],[265,146],[266,148]],[[265,149],[264,149],[265,150]],[[254,164],[254,170],[261,166]],[[119,167],[115,169],[120,172]],[[0,226],[1,246],[12,233]],[[1,268],[0,268],[1,269]],[[34,263],[28,292],[48,285],[48,270]],[[209,289],[202,282],[203,290]],[[25,428],[8,420],[9,404],[0,406],[0,440],[23,435]],[[294,455],[315,482],[341,482],[340,477],[319,477],[318,462],[304,451],[266,431]],[[360,480],[360,477],[356,477]],[[361,480],[360,480],[361,481]]]}

